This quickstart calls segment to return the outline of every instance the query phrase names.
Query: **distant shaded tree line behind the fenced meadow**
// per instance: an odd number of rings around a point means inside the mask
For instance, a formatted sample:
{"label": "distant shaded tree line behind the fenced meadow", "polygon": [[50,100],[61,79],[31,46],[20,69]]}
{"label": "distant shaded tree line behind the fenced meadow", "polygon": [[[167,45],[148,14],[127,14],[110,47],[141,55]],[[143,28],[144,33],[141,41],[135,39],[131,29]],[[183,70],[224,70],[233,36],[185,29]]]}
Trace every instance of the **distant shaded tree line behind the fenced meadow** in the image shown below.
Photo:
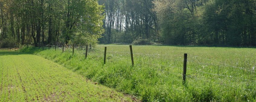
{"label": "distant shaded tree line behind the fenced meadow", "polygon": [[101,43],[256,46],[255,0],[99,0]]}

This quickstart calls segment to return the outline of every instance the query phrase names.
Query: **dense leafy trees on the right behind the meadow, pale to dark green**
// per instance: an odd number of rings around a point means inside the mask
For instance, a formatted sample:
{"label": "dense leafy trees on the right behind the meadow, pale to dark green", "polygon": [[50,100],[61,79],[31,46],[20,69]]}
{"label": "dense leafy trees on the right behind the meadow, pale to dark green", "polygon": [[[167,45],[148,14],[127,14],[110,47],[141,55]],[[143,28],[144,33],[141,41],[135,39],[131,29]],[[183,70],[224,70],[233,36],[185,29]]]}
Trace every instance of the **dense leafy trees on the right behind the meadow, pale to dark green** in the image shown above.
{"label": "dense leafy trees on the right behind the meadow, pale to dark green", "polygon": [[255,0],[156,0],[162,41],[255,46]]}

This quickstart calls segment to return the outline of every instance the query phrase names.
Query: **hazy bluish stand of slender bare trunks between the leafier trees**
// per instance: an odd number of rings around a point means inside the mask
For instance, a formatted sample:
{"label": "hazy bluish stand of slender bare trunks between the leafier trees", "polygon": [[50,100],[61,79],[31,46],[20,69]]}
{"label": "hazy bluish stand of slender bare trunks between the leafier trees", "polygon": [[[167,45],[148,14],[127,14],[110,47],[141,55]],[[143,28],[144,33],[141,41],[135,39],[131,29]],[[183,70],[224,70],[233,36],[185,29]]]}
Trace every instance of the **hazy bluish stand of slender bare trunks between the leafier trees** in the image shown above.
{"label": "hazy bluish stand of slender bare trunks between the leafier trees", "polygon": [[[130,44],[138,38],[159,39],[154,0],[99,0],[105,6],[101,44]],[[117,35],[118,34],[118,35]],[[119,39],[119,40],[118,40]]]}

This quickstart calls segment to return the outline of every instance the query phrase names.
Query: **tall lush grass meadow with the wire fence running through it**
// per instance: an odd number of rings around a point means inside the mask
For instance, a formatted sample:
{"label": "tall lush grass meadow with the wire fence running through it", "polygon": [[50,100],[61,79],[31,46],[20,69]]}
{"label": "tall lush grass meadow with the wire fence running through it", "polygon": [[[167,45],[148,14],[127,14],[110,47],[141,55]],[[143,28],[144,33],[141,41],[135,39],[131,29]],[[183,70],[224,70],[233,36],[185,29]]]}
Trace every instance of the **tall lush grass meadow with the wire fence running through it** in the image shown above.
{"label": "tall lush grass meadow with the wire fence running through it", "polygon": [[[104,46],[107,63],[103,65]],[[84,48],[24,48],[70,70],[142,101],[256,101],[255,48],[193,46],[98,45],[84,57]],[[188,53],[183,85],[183,54]]]}

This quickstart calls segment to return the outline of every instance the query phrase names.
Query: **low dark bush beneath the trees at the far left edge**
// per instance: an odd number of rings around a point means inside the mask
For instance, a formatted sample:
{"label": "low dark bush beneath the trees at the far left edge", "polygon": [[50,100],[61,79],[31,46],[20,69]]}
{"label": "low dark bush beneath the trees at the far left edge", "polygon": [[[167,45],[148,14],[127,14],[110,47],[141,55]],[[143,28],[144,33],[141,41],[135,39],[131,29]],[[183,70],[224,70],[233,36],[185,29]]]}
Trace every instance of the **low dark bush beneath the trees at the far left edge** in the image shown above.
{"label": "low dark bush beneath the trees at the far left edge", "polygon": [[16,46],[16,40],[12,38],[3,39],[0,41],[0,48],[14,48]]}

